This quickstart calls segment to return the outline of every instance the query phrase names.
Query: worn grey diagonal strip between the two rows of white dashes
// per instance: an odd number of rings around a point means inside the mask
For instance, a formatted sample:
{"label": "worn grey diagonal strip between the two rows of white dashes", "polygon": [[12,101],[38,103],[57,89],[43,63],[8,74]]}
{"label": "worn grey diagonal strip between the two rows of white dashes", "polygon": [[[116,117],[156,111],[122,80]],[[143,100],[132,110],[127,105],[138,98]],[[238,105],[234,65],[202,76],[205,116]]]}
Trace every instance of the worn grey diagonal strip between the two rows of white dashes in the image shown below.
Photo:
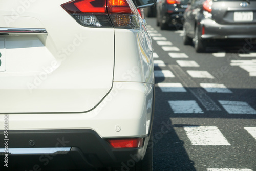
{"label": "worn grey diagonal strip between the two rows of white dashes", "polygon": [[202,88],[197,88],[198,84],[185,73],[178,65],[168,65],[173,73],[182,81],[182,84],[201,102],[207,111],[221,111],[220,107],[207,95]]}

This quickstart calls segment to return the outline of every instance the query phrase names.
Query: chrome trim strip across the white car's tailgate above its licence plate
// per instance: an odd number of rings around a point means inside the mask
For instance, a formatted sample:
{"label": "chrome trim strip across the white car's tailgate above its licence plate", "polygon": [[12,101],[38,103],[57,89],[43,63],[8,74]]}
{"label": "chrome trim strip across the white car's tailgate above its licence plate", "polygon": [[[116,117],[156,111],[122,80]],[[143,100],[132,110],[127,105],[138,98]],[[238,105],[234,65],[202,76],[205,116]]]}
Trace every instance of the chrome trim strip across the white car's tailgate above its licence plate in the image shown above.
{"label": "chrome trim strip across the white car's tailgate above its licence plate", "polygon": [[36,28],[3,28],[0,27],[0,35],[1,33],[5,34],[48,34],[46,29],[36,29]]}

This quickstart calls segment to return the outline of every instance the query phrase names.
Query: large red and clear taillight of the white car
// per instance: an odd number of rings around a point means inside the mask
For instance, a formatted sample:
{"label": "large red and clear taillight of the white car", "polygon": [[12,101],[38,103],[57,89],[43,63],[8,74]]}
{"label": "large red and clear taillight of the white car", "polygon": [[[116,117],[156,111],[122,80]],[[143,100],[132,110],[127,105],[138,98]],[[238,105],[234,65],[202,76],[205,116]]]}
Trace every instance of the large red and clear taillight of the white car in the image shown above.
{"label": "large red and clear taillight of the white car", "polygon": [[139,29],[139,13],[130,0],[72,0],[61,7],[83,26]]}

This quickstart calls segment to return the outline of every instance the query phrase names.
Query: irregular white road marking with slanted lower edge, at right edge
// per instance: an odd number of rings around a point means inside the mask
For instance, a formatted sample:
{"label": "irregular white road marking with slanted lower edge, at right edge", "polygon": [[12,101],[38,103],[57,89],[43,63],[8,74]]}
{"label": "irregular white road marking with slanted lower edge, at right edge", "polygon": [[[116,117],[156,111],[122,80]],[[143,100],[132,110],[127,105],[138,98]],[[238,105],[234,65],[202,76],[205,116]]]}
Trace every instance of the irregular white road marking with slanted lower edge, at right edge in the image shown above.
{"label": "irregular white road marking with slanted lower edge, at right edge", "polygon": [[231,66],[239,66],[249,72],[249,76],[256,76],[256,60],[231,60]]}

